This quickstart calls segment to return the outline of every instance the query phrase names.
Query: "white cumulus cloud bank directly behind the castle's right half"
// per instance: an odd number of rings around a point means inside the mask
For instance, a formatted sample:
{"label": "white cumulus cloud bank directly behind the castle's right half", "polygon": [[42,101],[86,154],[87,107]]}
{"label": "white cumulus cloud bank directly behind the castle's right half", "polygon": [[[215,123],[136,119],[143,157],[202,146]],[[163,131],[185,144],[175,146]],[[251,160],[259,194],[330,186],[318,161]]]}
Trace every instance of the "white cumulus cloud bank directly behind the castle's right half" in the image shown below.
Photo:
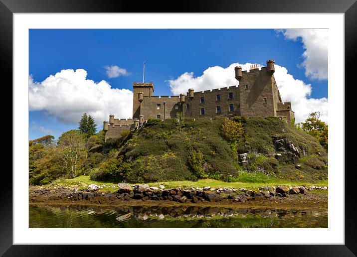
{"label": "white cumulus cloud bank directly behind the castle's right half", "polygon": [[[252,63],[232,63],[227,68],[214,66],[206,69],[201,76],[195,77],[193,72],[185,72],[177,79],[168,81],[174,95],[185,93],[189,88],[196,92],[233,86],[239,84],[234,78],[234,67],[242,66],[242,70],[249,70]],[[262,67],[258,64],[258,67]],[[302,80],[295,79],[285,67],[275,65],[274,77],[284,102],[291,102],[295,112],[296,122],[304,122],[310,113],[320,111],[321,120],[328,121],[328,99],[310,98],[311,84],[305,84]]]}

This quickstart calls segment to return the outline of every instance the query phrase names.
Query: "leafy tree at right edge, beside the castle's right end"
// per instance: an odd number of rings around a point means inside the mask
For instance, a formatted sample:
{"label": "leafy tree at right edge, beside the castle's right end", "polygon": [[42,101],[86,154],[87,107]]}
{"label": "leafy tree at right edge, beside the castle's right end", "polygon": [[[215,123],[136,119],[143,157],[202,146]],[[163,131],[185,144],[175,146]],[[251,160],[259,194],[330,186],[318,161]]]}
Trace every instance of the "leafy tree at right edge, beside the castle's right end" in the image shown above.
{"label": "leafy tree at right edge, beside the castle's right end", "polygon": [[314,136],[328,150],[329,126],[320,120],[320,116],[320,112],[311,113],[304,123],[299,124],[299,127]]}

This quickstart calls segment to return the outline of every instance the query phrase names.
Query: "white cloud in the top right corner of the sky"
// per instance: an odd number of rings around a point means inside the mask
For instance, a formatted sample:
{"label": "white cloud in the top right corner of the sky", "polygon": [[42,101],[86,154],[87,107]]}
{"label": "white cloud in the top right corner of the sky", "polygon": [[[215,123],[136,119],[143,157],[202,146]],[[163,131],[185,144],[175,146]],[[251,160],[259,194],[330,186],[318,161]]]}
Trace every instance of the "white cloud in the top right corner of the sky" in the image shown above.
{"label": "white cloud in the top right corner of the sky", "polygon": [[304,44],[304,61],[301,64],[305,68],[305,76],[312,79],[328,79],[328,29],[282,29],[286,39],[301,39]]}

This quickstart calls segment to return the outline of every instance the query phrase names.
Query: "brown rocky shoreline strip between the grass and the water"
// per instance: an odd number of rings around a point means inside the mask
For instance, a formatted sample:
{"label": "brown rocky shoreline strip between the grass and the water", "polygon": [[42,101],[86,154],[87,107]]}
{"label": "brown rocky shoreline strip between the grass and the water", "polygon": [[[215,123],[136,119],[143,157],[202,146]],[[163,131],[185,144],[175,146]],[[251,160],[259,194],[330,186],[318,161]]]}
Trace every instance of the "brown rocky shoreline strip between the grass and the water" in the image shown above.
{"label": "brown rocky shoreline strip between the grass and the water", "polygon": [[[155,191],[153,191],[155,192]],[[181,191],[177,191],[179,194]],[[182,190],[183,193],[186,193]],[[328,208],[328,192],[323,190],[314,190],[305,194],[286,194],[286,196],[269,196],[261,197],[259,192],[249,191],[238,193],[234,196],[217,193],[202,194],[199,200],[168,200],[156,198],[152,199],[133,199],[122,197],[126,193],[110,193],[98,190],[95,192],[88,191],[71,191],[68,189],[41,189],[29,191],[29,205],[87,205],[102,207],[126,207],[126,206],[197,206],[197,207],[216,207],[216,208],[274,208],[274,209],[311,209],[311,208]],[[212,191],[210,191],[212,192]],[[157,192],[155,192],[157,193]],[[214,198],[209,198],[214,194]],[[255,194],[255,197],[254,197]],[[128,194],[129,195],[129,194]],[[253,195],[253,196],[250,196]],[[126,195],[125,195],[126,196]],[[182,194],[183,196],[183,194]],[[198,196],[197,196],[198,197]],[[162,197],[161,197],[162,198]]]}

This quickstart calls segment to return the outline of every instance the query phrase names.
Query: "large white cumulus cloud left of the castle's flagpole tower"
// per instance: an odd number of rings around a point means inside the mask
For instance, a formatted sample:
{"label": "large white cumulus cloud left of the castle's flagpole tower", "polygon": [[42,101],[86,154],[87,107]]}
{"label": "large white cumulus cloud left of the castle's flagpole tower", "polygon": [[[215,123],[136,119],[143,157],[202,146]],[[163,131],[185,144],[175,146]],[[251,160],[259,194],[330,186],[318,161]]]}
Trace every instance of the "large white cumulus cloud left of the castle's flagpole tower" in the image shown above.
{"label": "large white cumulus cloud left of the castle's flagpole tower", "polygon": [[83,113],[91,115],[98,128],[109,114],[132,117],[132,91],[112,88],[104,80],[89,80],[83,69],[61,70],[42,82],[34,82],[29,76],[28,87],[30,111],[44,111],[67,124],[78,124]]}

